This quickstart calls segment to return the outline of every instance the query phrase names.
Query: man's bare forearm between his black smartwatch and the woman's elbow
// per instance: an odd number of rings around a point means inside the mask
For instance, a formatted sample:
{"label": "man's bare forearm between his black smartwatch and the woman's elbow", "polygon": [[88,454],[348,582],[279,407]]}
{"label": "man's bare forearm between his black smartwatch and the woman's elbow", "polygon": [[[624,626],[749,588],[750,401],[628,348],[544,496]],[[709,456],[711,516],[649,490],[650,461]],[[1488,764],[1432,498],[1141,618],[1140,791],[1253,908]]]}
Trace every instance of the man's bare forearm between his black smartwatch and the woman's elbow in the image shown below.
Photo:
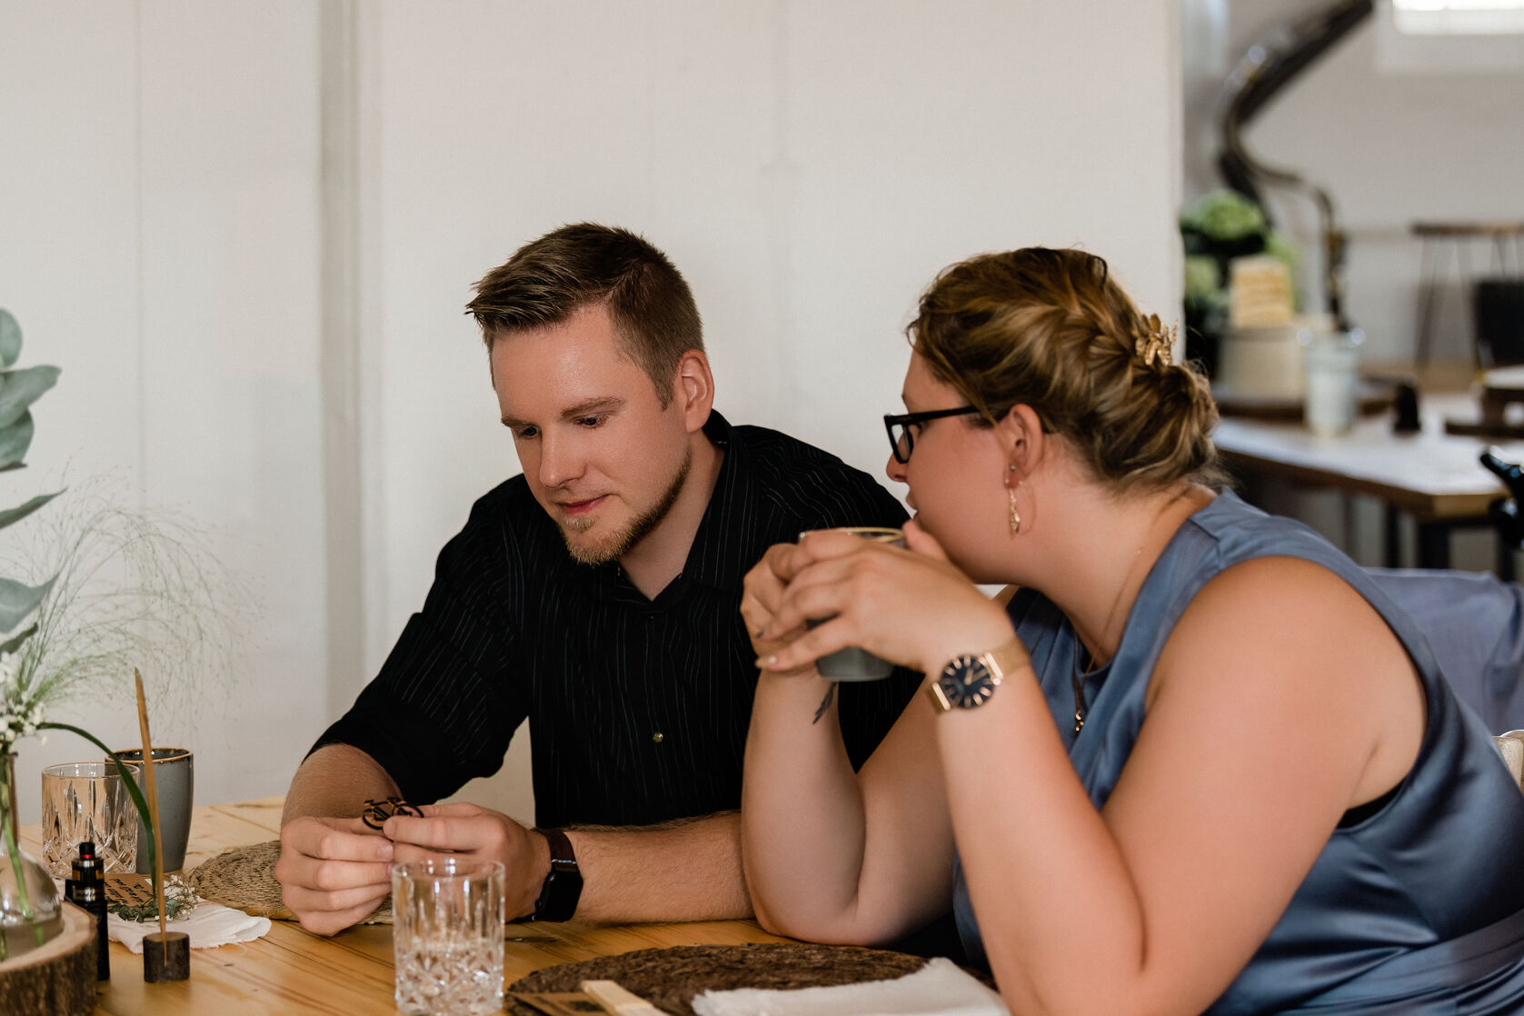
{"label": "man's bare forearm between his black smartwatch and the woman's elbow", "polygon": [[582,870],[576,920],[751,917],[736,812],[646,829],[568,829],[567,838]]}

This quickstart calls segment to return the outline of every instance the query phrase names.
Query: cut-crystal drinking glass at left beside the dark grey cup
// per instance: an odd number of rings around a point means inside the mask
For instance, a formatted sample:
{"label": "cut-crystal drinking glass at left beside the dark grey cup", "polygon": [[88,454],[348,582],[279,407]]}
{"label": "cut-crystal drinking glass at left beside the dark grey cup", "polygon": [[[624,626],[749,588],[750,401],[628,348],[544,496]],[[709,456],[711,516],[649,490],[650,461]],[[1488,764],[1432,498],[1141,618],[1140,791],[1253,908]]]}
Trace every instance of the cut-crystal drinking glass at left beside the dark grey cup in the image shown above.
{"label": "cut-crystal drinking glass at left beside the dark grey cup", "polygon": [[[126,766],[134,780],[142,766]],[[79,844],[90,839],[107,874],[137,864],[137,807],[113,762],[66,762],[43,769],[43,864],[67,879]]]}

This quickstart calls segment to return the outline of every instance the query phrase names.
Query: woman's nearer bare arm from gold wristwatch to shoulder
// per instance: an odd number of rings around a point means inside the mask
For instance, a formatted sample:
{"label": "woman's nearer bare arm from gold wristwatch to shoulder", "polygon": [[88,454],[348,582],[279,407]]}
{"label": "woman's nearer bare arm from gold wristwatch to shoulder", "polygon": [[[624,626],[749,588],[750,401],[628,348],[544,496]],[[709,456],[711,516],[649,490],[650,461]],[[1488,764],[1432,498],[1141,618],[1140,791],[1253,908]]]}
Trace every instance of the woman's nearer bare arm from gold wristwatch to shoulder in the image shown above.
{"label": "woman's nearer bare arm from gold wristwatch to shoulder", "polygon": [[969,891],[1015,1011],[1201,1011],[1268,935],[1341,812],[1411,768],[1423,730],[1420,685],[1385,623],[1292,559],[1209,583],[1149,695],[1100,813],[1033,681],[940,717]]}

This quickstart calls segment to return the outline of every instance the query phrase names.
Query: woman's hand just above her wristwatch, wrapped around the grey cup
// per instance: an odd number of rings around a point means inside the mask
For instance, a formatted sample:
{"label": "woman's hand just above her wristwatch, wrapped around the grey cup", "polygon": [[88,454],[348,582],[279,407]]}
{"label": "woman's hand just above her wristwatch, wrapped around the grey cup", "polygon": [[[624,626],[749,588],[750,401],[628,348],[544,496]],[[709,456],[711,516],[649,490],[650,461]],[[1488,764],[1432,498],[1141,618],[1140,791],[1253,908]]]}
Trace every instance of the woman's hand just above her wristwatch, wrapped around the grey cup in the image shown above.
{"label": "woman's hand just above her wristwatch, wrapped around the grey cup", "polygon": [[[742,600],[759,666],[796,672],[837,649],[860,646],[934,672],[957,653],[986,652],[1010,638],[1004,611],[913,521],[905,524],[905,547],[832,530],[773,547],[747,576]],[[767,574],[757,576],[764,568]],[[829,620],[806,628],[806,620],[820,618]]]}

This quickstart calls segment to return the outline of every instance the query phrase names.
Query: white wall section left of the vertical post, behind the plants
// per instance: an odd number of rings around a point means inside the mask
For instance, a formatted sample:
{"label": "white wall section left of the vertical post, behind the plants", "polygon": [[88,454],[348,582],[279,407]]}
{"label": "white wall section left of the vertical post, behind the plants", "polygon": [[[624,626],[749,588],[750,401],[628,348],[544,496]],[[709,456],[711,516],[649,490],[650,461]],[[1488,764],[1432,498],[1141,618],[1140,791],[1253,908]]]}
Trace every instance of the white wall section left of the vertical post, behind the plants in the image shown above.
{"label": "white wall section left of the vertical post, behind the plants", "polygon": [[[0,503],[113,472],[213,529],[264,614],[155,740],[197,752],[201,801],[277,794],[325,708],[312,8],[8,0],[0,24],[0,305],[23,364],[62,367]],[[137,743],[130,684],[53,719]],[[21,742],[23,818],[43,765],[94,757]]]}

